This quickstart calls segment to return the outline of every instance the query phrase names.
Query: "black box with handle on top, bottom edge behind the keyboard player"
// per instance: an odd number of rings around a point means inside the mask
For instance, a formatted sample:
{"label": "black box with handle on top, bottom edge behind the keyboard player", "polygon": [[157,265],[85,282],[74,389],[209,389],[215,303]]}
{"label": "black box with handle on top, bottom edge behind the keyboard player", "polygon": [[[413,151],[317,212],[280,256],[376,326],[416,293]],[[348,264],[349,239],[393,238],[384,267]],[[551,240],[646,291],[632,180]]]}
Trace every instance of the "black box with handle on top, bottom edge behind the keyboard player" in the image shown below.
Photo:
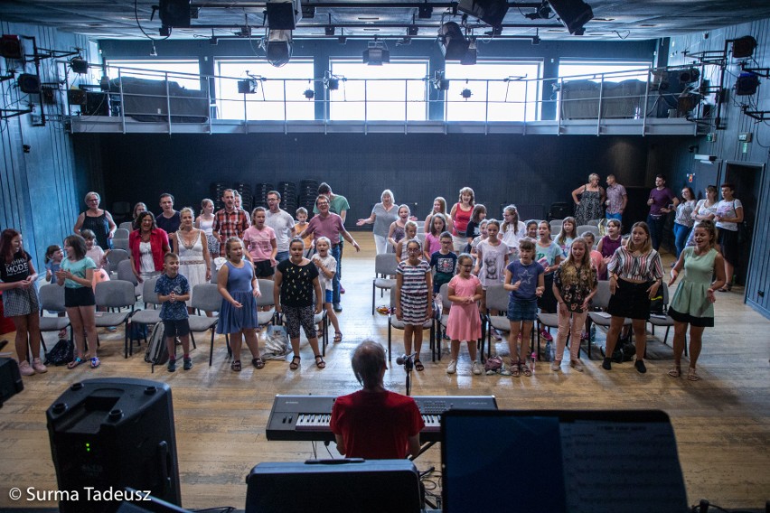
{"label": "black box with handle on top, bottom edge behind the keyboard player", "polygon": [[265,462],[246,483],[246,513],[420,510],[419,474],[409,460]]}

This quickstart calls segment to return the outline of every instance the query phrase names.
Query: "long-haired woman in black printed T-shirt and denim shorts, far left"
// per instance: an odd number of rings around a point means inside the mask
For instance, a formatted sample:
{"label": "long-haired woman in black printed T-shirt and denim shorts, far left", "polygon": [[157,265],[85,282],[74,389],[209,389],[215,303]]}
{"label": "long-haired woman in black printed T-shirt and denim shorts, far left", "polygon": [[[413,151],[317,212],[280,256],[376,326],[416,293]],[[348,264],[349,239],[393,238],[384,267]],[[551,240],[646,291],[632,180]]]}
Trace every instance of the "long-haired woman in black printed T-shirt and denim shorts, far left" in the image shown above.
{"label": "long-haired woman in black printed T-shirt and denim shorts, far left", "polygon": [[[37,273],[32,257],[24,251],[22,234],[14,229],[3,230],[0,236],[0,291],[3,291],[3,312],[14,321],[16,356],[22,376],[43,373],[47,369],[40,360],[40,303],[34,282]],[[27,337],[32,350],[32,365],[27,360]]]}

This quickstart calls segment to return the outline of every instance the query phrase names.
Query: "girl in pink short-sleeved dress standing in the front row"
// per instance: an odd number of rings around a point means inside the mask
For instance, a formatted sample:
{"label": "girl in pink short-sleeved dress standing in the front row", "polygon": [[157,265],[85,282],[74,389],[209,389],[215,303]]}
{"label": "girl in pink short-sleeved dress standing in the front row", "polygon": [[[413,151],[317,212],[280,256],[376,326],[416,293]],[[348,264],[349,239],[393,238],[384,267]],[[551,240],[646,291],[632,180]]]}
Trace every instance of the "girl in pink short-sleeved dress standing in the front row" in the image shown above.
{"label": "girl in pink short-sleeved dress standing in the front row", "polygon": [[455,374],[460,354],[460,340],[468,342],[468,355],[474,362],[473,373],[482,373],[482,366],[476,360],[476,341],[481,338],[481,317],[478,302],[482,298],[482,286],[478,277],[471,274],[474,259],[467,253],[457,257],[457,274],[449,282],[447,292],[452,308],[446,323],[446,335],[452,340],[452,360],[446,368],[447,374]]}

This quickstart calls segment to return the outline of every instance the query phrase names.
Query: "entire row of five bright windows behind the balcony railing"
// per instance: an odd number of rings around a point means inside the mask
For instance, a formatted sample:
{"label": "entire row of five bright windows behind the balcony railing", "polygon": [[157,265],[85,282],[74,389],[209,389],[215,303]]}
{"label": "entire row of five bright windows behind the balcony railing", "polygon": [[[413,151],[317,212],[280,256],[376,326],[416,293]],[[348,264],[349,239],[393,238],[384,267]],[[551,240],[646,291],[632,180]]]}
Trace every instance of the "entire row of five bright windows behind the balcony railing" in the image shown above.
{"label": "entire row of five bright windows behind the balcony railing", "polygon": [[[559,78],[646,81],[650,66],[649,61],[561,61]],[[429,106],[440,101],[447,121],[534,121],[544,101],[557,99],[542,80],[541,61],[446,62],[443,98],[437,81],[427,79],[427,60],[368,66],[333,59],[329,73],[339,79],[337,89],[315,87],[320,80],[308,79],[314,76],[310,60],[293,60],[281,68],[268,61],[217,60],[215,70],[212,102],[221,119],[315,119],[314,100],[323,99],[324,119],[329,120],[426,120]],[[186,89],[201,90],[206,83],[199,78],[198,61],[108,61],[112,78],[164,79],[166,73]],[[248,77],[257,77],[253,94],[239,92],[239,80]],[[308,89],[321,90],[324,97],[305,94]]]}

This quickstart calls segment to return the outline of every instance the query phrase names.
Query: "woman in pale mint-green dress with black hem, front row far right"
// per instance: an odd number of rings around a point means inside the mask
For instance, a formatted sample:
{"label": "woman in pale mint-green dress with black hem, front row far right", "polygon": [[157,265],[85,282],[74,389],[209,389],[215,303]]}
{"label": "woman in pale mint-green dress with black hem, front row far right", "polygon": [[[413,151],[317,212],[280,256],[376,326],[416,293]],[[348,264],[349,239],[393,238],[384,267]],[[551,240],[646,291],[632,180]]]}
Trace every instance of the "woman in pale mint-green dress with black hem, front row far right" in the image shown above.
{"label": "woman in pale mint-green dress with black hem, front row far right", "polygon": [[[714,326],[714,291],[725,284],[725,261],[714,248],[717,229],[710,220],[700,221],[694,229],[695,246],[686,247],[676,266],[671,269],[669,286],[676,281],[682,268],[684,277],[671,298],[669,315],[674,320],[674,367],[671,378],[681,376],[681,353],[684,351],[687,325],[690,324],[690,368],[687,378],[698,381],[695,364],[700,355],[703,330]],[[717,279],[711,281],[712,276]]]}

